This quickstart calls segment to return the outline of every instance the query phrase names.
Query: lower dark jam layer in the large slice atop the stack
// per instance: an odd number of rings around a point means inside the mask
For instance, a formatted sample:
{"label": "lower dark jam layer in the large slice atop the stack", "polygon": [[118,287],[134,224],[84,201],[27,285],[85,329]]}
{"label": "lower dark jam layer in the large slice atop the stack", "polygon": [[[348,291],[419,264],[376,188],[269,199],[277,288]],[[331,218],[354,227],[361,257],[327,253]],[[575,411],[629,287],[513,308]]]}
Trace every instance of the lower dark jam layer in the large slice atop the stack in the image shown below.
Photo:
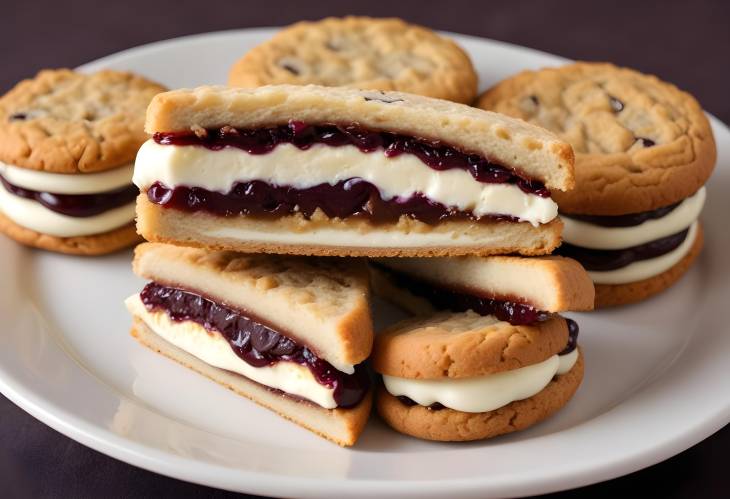
{"label": "lower dark jam layer in the large slice atop the stack", "polygon": [[443,220],[471,220],[477,222],[510,221],[519,219],[509,215],[477,217],[472,212],[460,211],[432,201],[422,194],[408,198],[384,200],[380,191],[360,178],[343,180],[335,185],[319,184],[306,189],[271,185],[260,180],[236,183],[228,193],[209,191],[201,187],[178,186],[170,189],[155,182],[147,189],[150,202],[186,212],[205,211],[217,216],[250,215],[255,217],[282,217],[299,213],[306,219],[319,208],[330,218],[364,218],[373,223],[396,223],[408,216],[426,224]]}

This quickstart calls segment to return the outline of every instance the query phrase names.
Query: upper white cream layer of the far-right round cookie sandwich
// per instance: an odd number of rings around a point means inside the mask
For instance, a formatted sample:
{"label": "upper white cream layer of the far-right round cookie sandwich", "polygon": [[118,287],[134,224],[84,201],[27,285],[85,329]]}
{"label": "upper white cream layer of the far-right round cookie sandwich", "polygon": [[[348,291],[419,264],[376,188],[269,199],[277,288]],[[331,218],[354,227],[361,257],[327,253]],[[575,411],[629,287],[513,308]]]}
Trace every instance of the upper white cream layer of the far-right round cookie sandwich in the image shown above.
{"label": "upper white cream layer of the far-right round cookie sandwich", "polygon": [[705,204],[705,188],[682,201],[667,215],[633,227],[602,227],[561,215],[563,240],[591,249],[624,249],[676,234],[697,220]]}

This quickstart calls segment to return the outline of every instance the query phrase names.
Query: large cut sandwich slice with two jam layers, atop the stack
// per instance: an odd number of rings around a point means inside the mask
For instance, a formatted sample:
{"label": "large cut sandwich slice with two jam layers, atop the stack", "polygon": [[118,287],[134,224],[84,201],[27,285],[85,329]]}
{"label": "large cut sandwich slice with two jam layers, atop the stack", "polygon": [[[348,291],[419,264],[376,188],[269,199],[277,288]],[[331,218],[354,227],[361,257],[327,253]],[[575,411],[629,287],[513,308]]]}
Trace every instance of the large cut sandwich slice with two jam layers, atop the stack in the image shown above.
{"label": "large cut sandwich slice with two jam layers, atop the stack", "polygon": [[337,256],[545,254],[572,151],[403,93],[289,85],[158,95],[134,181],[152,241]]}

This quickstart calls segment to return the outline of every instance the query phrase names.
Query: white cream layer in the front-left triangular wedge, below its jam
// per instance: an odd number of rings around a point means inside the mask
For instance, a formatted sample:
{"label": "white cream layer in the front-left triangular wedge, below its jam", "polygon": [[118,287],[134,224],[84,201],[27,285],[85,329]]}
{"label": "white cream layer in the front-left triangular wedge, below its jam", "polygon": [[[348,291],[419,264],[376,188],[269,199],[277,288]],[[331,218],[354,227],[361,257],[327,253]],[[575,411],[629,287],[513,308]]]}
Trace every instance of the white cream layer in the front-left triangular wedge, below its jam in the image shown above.
{"label": "white cream layer in the front-left triangular wedge, below its jam", "polygon": [[176,322],[165,312],[150,312],[139,295],[125,300],[127,309],[165,341],[219,369],[238,373],[264,386],[311,400],[325,409],[334,409],[334,389],[319,382],[307,367],[294,362],[276,362],[253,367],[235,354],[220,333],[208,331],[193,321]]}

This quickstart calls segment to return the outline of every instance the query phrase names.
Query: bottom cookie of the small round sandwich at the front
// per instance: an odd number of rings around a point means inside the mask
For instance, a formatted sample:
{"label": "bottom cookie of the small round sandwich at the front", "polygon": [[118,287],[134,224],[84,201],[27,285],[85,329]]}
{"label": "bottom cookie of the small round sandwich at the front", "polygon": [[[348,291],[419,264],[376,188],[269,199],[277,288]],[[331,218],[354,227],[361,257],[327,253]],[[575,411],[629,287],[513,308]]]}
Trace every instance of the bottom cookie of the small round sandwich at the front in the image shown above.
{"label": "bottom cookie of the small round sandwich at the front", "polygon": [[557,412],[580,386],[583,369],[583,353],[579,352],[575,366],[553,378],[541,392],[489,412],[407,406],[382,386],[378,389],[376,407],[388,425],[406,435],[443,442],[483,440],[524,430]]}

